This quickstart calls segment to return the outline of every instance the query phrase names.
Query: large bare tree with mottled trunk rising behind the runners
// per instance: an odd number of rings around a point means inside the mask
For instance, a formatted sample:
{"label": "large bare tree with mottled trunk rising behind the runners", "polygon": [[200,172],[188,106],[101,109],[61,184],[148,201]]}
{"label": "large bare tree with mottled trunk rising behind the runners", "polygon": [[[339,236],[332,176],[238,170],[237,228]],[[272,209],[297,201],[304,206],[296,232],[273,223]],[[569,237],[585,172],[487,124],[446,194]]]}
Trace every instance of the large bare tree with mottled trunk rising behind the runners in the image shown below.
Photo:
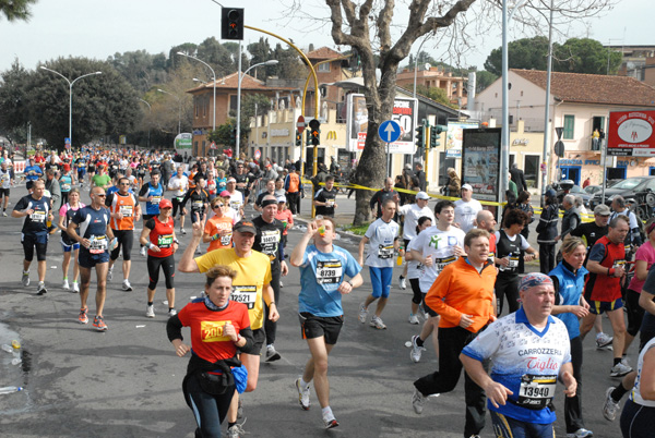
{"label": "large bare tree with mottled trunk rising behind the runners", "polygon": [[[593,15],[603,11],[615,0],[577,0],[574,4],[561,0],[560,12],[571,20],[571,16]],[[439,38],[450,38],[449,48],[458,51],[460,46],[467,42],[468,16],[464,17],[476,0],[409,0],[402,2],[407,8],[408,16],[404,25],[394,21],[394,0],[364,0],[355,3],[352,0],[325,0],[330,9],[332,22],[332,39],[338,46],[350,46],[357,49],[364,76],[364,95],[368,109],[369,120],[367,138],[356,171],[356,181],[369,187],[382,186],[385,177],[385,154],[381,141],[377,135],[380,123],[391,119],[395,98],[395,82],[400,62],[409,54],[412,45],[417,38],[429,33],[434,33]],[[408,3],[408,5],[407,5]],[[296,8],[300,8],[299,3]],[[489,24],[489,28],[497,27],[499,2],[497,0],[480,0],[478,10],[471,15],[480,16]],[[562,12],[563,11],[563,12]],[[532,15],[531,15],[532,12]],[[520,9],[514,14],[513,23],[539,28],[543,26],[544,8],[536,2]],[[287,13],[288,15],[288,13]],[[393,28],[392,28],[393,23]],[[453,26],[453,24],[457,24]],[[479,25],[483,27],[483,25]],[[484,32],[484,29],[483,29]],[[395,37],[393,40],[392,35]],[[443,39],[442,39],[443,40]],[[376,54],[379,60],[376,61]],[[380,70],[378,82],[376,70]],[[370,215],[370,191],[357,191],[357,206],[354,223],[365,222]]]}

